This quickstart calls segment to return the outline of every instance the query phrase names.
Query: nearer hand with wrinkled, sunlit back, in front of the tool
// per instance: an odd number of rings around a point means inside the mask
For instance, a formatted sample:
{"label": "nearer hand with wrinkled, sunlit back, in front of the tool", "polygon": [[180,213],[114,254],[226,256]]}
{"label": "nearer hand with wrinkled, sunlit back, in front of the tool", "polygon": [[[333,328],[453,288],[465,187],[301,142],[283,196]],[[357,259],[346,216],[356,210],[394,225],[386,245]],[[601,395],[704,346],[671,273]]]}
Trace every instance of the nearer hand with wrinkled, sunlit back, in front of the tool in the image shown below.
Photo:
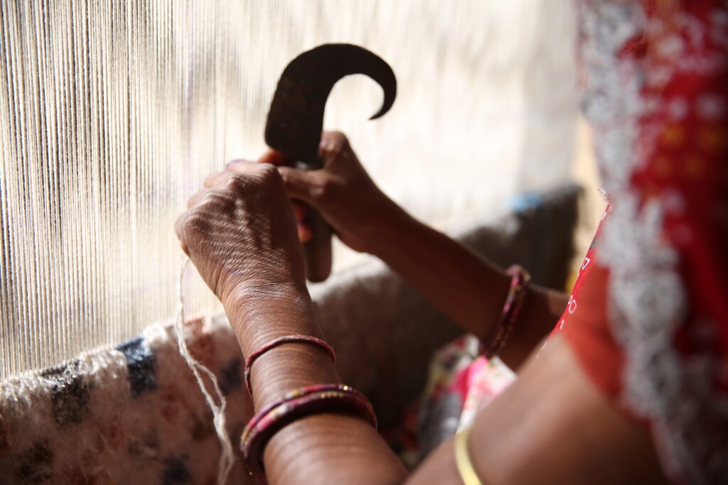
{"label": "nearer hand with wrinkled, sunlit back, in front of the tool", "polygon": [[226,309],[242,295],[305,292],[296,220],[277,170],[237,161],[205,180],[175,224],[182,249]]}

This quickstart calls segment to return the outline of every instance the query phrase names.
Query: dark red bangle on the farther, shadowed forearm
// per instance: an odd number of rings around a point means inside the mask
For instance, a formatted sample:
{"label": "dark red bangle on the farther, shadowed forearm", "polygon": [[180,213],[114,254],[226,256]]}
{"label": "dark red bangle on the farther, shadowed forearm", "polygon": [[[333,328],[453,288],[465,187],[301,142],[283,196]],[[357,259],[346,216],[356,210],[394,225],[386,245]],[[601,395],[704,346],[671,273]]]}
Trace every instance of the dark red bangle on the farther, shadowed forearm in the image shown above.
{"label": "dark red bangle on the farther, shadowed forearm", "polygon": [[500,317],[486,339],[483,355],[488,359],[498,355],[505,346],[511,332],[513,332],[515,321],[518,320],[518,315],[521,313],[521,308],[523,308],[523,302],[526,301],[526,294],[528,294],[529,282],[531,281],[529,272],[519,265],[510,266],[505,270],[505,273],[510,276],[510,287]]}

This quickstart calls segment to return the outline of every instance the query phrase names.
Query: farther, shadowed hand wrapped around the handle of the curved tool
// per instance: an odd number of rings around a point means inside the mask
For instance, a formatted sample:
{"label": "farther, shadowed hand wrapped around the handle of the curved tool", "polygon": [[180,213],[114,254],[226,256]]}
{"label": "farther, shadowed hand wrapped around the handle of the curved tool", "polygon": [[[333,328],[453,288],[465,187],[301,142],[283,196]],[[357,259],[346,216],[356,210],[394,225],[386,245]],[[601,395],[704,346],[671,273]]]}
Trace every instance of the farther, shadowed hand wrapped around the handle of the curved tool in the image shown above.
{"label": "farther, shadowed hand wrapped around the handle of the curved tool", "polygon": [[[286,167],[290,160],[277,151],[269,151],[259,161],[278,167],[294,201],[301,243],[306,243],[311,233],[305,225],[306,208],[296,201],[319,211],[347,246],[375,252],[382,231],[391,227],[392,218],[401,209],[374,184],[343,133],[324,132],[319,155],[323,169],[309,171]],[[230,162],[227,169],[236,171],[236,164]]]}

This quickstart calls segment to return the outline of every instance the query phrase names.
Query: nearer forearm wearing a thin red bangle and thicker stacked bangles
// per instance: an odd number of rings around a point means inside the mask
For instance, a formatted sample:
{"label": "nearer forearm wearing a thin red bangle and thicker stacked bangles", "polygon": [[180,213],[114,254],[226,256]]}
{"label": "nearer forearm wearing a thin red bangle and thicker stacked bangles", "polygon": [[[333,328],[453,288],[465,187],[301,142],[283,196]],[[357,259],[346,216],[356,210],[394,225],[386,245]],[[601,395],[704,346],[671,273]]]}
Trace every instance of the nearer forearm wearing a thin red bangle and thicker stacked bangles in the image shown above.
{"label": "nearer forearm wearing a thin red bangle and thicker stacked bangles", "polygon": [[[257,294],[237,298],[228,307],[246,356],[283,335],[323,338],[308,294]],[[340,382],[328,354],[305,343],[269,350],[251,371],[256,409],[295,388]],[[394,484],[405,477],[403,465],[376,430],[345,414],[314,414],[285,426],[267,444],[264,464],[272,484]]]}

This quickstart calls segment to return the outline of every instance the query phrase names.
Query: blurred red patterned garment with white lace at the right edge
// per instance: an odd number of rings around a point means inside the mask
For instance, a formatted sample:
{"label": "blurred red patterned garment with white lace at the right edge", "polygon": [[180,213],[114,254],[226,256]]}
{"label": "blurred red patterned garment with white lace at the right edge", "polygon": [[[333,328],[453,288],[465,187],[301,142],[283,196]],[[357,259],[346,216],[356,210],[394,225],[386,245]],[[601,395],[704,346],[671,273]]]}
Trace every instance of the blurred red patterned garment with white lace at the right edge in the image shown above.
{"label": "blurred red patterned garment with white lace at the right edge", "polygon": [[670,478],[728,483],[727,2],[581,7],[609,207],[555,333]]}

